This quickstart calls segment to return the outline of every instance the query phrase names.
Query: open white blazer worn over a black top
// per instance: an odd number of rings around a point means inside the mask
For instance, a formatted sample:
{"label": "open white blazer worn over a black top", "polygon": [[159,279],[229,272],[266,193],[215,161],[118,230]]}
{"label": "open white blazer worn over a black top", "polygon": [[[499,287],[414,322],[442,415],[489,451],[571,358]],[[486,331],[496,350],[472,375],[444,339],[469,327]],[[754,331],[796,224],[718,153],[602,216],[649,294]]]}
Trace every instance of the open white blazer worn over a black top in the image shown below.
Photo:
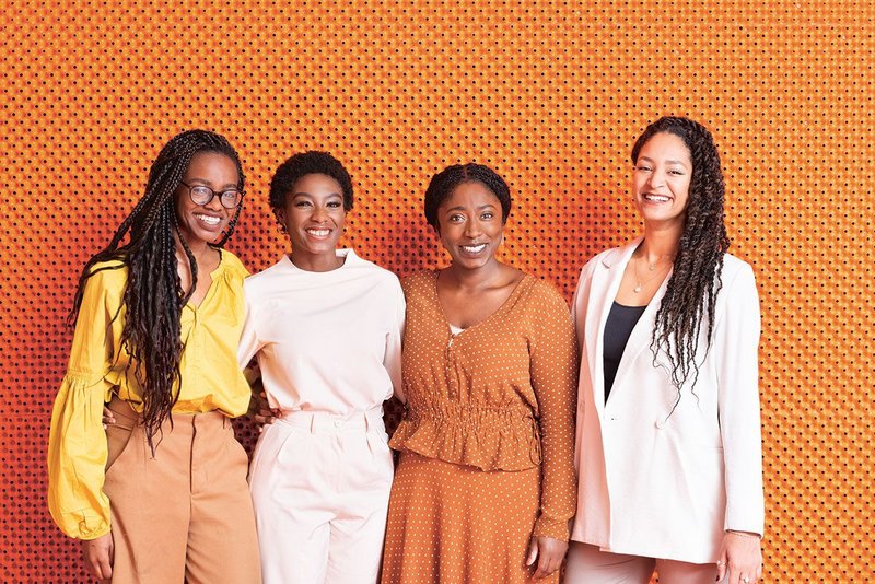
{"label": "open white blazer worn over a black top", "polygon": [[654,360],[650,349],[666,278],[629,337],[606,405],[605,322],[640,242],[594,257],[574,295],[582,362],[571,539],[616,553],[715,562],[724,529],[763,532],[754,271],[724,256],[713,343],[705,355],[702,330],[699,377],[679,400],[667,357]]}

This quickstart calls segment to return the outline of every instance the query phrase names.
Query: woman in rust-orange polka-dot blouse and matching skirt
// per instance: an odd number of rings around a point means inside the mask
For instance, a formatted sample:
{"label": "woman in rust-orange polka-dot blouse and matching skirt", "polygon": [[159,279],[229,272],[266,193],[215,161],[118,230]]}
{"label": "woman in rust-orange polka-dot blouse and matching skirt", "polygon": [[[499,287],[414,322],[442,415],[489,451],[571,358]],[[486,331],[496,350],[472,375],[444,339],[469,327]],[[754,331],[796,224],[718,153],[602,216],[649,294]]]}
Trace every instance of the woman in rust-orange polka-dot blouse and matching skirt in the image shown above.
{"label": "woman in rust-orange polka-dot blouse and matching skirt", "polygon": [[452,264],[402,282],[400,451],[384,583],[558,582],[576,484],[576,347],[568,306],[495,252],[511,208],[492,170],[454,165],[425,192]]}

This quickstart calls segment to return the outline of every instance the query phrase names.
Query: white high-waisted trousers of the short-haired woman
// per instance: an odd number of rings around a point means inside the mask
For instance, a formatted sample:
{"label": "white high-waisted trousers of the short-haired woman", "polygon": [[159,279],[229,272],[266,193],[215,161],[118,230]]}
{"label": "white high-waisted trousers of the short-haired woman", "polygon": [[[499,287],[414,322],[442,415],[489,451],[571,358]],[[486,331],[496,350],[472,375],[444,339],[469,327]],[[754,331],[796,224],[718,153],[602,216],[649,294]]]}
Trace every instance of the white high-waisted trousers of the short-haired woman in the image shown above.
{"label": "white high-waisted trousers of the short-haired woman", "polygon": [[264,583],[376,583],[392,478],[381,408],[265,427],[249,474]]}

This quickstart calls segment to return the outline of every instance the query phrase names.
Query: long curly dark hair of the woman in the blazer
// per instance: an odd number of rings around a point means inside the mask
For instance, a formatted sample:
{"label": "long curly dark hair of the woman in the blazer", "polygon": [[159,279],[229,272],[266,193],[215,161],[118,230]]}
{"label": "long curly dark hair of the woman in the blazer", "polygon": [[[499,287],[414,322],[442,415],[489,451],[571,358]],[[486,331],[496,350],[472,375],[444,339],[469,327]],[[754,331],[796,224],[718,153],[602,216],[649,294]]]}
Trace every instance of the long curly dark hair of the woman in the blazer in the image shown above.
{"label": "long curly dark hair of the woman in the blazer", "polygon": [[711,132],[699,122],[682,117],[663,117],[648,126],[632,147],[632,162],[644,144],[657,133],[672,133],[684,141],[692,161],[689,198],[684,232],[680,235],[674,271],[656,313],[651,340],[654,355],[664,349],[668,355],[672,382],[678,388],[699,377],[696,346],[702,326],[708,323],[708,350],[714,330],[714,304],[723,287],[723,255],[730,248],[723,224],[725,185],[720,154]]}

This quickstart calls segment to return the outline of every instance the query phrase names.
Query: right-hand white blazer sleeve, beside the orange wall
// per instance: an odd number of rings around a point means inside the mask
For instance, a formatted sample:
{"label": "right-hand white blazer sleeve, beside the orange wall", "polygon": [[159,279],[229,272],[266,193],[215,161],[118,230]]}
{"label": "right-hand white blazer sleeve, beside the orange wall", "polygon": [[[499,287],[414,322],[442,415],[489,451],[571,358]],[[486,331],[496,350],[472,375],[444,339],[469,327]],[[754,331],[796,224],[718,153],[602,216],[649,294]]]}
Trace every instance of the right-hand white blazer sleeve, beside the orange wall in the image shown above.
{"label": "right-hand white blazer sleeve, beside the orange wall", "polygon": [[762,535],[762,442],[759,407],[760,309],[754,270],[742,264],[726,283],[725,313],[712,351],[718,366],[718,413],[725,465],[725,529]]}

